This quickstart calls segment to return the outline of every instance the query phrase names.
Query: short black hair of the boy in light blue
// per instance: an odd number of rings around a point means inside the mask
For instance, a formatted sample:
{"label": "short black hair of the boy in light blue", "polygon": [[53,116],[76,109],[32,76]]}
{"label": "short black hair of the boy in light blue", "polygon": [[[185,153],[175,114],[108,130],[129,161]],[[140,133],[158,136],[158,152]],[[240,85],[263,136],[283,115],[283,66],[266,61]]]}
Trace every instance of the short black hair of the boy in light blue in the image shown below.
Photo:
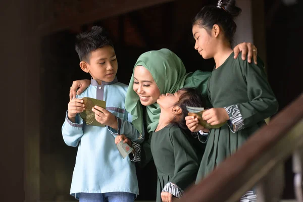
{"label": "short black hair of the boy in light blue", "polygon": [[75,49],[80,61],[89,63],[90,53],[106,45],[114,47],[113,41],[103,27],[93,26],[90,31],[76,36]]}

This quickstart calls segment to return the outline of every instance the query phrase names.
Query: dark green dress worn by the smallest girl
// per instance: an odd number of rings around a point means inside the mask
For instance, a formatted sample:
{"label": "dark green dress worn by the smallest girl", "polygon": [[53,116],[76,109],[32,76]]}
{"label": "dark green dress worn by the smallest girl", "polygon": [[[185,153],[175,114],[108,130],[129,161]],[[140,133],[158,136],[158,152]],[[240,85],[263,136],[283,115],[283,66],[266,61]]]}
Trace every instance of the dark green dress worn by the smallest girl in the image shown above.
{"label": "dark green dress worn by the smallest girl", "polygon": [[[190,141],[174,124],[151,133],[150,149],[158,173],[157,201],[161,201],[161,192],[166,185],[173,195],[181,196],[182,190],[194,183],[199,159]],[[172,187],[170,182],[179,188]]]}

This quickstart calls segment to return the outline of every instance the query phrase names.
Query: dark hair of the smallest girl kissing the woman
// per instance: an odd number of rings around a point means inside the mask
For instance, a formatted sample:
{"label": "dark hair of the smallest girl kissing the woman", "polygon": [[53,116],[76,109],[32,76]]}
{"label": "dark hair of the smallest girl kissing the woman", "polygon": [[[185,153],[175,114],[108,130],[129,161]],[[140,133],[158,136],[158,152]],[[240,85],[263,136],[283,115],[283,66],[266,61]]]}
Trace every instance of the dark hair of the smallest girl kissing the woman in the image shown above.
{"label": "dark hair of the smallest girl kissing the woman", "polygon": [[185,117],[188,116],[186,106],[189,107],[206,107],[206,99],[202,96],[196,88],[184,87],[178,91],[183,91],[180,95],[179,101],[174,106],[179,106],[182,110],[180,116],[175,117],[173,123],[179,128],[187,129]]}

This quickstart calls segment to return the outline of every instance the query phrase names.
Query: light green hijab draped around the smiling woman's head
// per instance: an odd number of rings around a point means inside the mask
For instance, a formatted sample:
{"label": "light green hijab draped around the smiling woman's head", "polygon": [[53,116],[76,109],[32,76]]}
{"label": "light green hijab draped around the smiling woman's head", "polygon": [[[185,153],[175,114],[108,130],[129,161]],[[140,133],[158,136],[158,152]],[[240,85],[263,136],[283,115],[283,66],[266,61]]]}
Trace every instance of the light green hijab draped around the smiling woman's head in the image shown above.
{"label": "light green hijab draped around the smiling woman's head", "polygon": [[[159,51],[143,53],[137,60],[135,67],[145,67],[153,76],[160,93],[174,93],[182,87],[201,87],[203,93],[207,90],[207,79],[210,72],[186,74],[181,59],[167,48]],[[202,74],[196,74],[196,73]],[[202,77],[200,77],[202,76]],[[204,77],[203,77],[204,76]],[[200,78],[197,78],[200,77]],[[125,98],[125,109],[132,115],[132,124],[142,133],[143,113],[139,96],[133,90],[134,72],[131,76]],[[155,131],[159,123],[160,107],[157,103],[146,106],[147,131]]]}

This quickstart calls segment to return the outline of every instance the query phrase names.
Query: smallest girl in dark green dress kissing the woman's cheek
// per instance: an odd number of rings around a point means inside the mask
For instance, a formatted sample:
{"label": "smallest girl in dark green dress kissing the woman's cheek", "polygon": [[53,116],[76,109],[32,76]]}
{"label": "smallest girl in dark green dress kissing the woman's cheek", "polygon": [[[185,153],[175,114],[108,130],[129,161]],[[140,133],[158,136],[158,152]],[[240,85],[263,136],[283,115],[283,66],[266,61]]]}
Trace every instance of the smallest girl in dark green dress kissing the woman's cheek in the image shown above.
{"label": "smallest girl in dark green dress kissing the woman's cheek", "polygon": [[[151,74],[146,73],[149,80]],[[196,178],[200,159],[190,133],[184,130],[187,129],[186,106],[204,107],[204,99],[195,88],[181,88],[157,99],[161,113],[149,144],[158,173],[157,201],[171,202],[173,196],[180,198]],[[119,143],[122,139],[129,142],[124,135],[117,136],[115,141]]]}

